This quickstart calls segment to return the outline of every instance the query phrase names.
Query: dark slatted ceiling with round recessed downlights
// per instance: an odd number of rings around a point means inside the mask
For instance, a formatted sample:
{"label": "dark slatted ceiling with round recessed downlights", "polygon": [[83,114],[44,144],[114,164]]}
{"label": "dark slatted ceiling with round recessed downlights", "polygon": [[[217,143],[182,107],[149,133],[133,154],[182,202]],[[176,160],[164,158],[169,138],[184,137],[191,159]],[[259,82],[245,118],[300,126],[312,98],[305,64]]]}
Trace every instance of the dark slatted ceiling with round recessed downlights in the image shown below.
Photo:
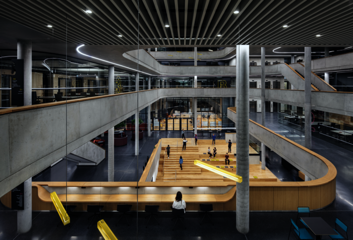
{"label": "dark slatted ceiling with round recessed downlights", "polygon": [[0,4],[2,17],[73,44],[353,44],[352,0],[140,0],[139,40],[137,0],[0,0]]}

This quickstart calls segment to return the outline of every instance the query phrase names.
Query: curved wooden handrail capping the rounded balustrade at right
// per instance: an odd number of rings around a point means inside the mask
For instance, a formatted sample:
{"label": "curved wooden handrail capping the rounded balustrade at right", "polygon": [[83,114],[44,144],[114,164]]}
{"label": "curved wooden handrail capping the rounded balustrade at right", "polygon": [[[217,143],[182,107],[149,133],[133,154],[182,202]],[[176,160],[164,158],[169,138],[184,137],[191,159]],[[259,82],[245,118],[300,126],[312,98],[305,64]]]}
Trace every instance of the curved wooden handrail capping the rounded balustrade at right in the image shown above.
{"label": "curved wooden handrail capping the rounded balustrade at right", "polygon": [[[228,109],[234,113],[237,113],[236,111],[236,107],[228,107]],[[335,168],[335,166],[329,161],[327,160],[326,158],[324,158],[323,156],[303,147],[302,145],[296,143],[296,142],[293,142],[285,137],[283,137],[282,135],[279,135],[275,132],[273,132],[272,130],[262,126],[261,124],[258,124],[254,121],[252,121],[251,119],[249,119],[249,121],[253,124],[256,124],[257,126],[259,126],[260,128],[263,128],[264,130],[272,133],[273,135],[277,136],[278,138],[281,138],[282,140],[284,141],[287,141],[288,143],[310,153],[311,155],[319,158],[321,161],[323,161],[327,168],[328,168],[328,171],[326,173],[325,176],[321,177],[321,178],[318,178],[318,179],[315,179],[313,181],[307,181],[307,182],[293,182],[292,185],[293,187],[309,187],[309,186],[320,186],[320,185],[324,185],[324,184],[327,184],[331,181],[333,181],[335,178],[336,178],[336,175],[337,175],[337,169]],[[285,186],[288,182],[250,182],[250,186],[256,186],[256,187],[261,187],[261,186],[264,186],[264,187],[268,187],[268,186],[273,186],[273,187],[281,187],[281,186]],[[289,182],[290,183],[290,182]],[[287,186],[286,186],[287,187]]]}

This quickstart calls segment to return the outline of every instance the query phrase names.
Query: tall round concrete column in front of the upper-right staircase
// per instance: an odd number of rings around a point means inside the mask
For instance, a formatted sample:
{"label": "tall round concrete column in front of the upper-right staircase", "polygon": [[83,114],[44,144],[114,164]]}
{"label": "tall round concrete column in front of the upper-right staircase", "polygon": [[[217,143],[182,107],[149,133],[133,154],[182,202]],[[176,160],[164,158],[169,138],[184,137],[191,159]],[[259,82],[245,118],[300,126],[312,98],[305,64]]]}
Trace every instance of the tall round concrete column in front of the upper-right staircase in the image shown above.
{"label": "tall round concrete column in front of the upper-right staircase", "polygon": [[311,149],[311,47],[305,47],[305,147]]}

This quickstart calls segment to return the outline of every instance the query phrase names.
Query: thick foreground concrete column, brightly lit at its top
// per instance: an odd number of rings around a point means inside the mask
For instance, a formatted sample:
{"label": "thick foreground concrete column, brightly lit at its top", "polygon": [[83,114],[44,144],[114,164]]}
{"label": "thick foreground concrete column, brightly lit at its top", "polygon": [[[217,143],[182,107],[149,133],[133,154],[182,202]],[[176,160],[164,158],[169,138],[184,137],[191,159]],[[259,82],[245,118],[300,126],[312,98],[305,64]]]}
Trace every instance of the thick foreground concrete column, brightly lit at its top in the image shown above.
{"label": "thick foreground concrete column, brightly lit at its top", "polygon": [[249,45],[237,45],[237,229],[249,232]]}

